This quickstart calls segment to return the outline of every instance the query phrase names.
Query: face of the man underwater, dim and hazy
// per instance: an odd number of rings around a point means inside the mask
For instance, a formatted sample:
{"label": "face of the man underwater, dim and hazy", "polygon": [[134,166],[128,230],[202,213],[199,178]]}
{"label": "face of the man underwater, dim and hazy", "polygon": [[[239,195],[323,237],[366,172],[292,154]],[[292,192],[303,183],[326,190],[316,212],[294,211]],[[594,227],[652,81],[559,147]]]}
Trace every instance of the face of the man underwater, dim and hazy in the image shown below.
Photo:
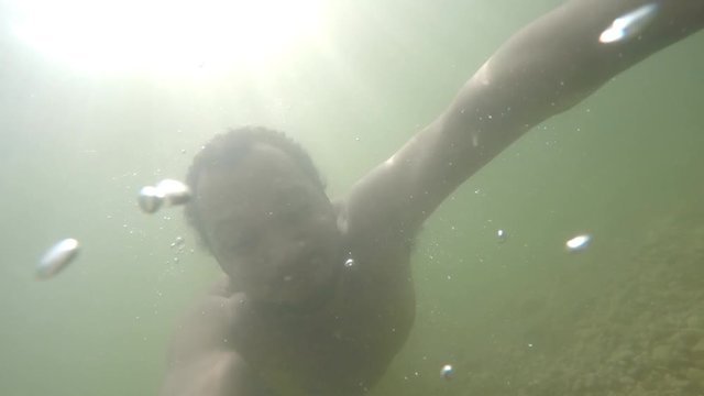
{"label": "face of the man underwater, dim and hazy", "polygon": [[196,205],[213,255],[248,297],[296,305],[333,287],[334,210],[283,151],[258,144],[233,169],[204,170]]}

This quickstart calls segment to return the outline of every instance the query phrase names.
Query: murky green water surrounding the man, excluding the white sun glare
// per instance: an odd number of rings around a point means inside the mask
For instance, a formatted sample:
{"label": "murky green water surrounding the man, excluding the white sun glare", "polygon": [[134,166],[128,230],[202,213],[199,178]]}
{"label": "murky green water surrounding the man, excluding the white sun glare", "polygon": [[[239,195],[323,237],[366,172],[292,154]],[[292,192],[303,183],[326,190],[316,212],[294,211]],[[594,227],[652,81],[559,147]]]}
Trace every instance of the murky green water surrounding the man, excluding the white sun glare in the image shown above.
{"label": "murky green water surrounding the man, excluding the white sun glare", "polygon": [[[139,211],[139,188],[254,123],[288,131],[342,194],[559,2],[524,3],[339,2],[327,51],[217,78],[80,70],[16,40],[6,14],[0,394],[155,394],[173,323],[217,267],[179,210]],[[414,260],[415,330],[375,395],[704,392],[702,48],[700,34],[618,76],[438,210]],[[68,237],[78,260],[35,282]]]}

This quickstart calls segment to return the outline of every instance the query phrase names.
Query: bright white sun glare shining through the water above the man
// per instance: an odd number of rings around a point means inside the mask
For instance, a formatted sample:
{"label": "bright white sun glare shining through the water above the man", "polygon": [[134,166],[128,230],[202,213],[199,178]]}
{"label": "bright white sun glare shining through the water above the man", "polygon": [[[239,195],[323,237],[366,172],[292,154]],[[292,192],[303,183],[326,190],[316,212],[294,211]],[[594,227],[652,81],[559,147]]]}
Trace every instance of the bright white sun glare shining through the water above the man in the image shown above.
{"label": "bright white sun glare shining through the water above the man", "polygon": [[16,1],[13,31],[73,68],[187,76],[271,68],[314,44],[320,0]]}

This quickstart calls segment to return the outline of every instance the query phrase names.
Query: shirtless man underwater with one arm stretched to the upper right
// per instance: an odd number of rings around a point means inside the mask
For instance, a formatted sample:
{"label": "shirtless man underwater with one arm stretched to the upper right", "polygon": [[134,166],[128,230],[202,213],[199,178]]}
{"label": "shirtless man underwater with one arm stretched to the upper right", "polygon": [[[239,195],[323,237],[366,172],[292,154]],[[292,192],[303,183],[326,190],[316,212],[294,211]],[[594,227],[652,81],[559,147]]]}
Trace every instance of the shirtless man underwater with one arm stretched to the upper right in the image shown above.
{"label": "shirtless man underwater with one arm stretched to the upper right", "polygon": [[[600,41],[644,7],[637,37]],[[702,28],[703,0],[568,1],[514,34],[442,114],[336,200],[283,134],[216,136],[189,169],[186,215],[227,276],[178,327],[162,394],[366,393],[411,329],[424,221],[522,133]]]}

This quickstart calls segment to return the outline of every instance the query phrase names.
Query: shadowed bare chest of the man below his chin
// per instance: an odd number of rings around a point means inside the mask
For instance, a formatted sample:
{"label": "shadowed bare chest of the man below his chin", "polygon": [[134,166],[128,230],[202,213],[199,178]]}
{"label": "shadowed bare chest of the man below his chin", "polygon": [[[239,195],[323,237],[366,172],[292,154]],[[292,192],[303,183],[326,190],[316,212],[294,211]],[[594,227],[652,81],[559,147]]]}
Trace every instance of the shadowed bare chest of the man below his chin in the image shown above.
{"label": "shadowed bare chest of the man below his chin", "polygon": [[238,351],[284,395],[361,394],[405,343],[415,316],[408,256],[353,260],[320,312],[241,322]]}

